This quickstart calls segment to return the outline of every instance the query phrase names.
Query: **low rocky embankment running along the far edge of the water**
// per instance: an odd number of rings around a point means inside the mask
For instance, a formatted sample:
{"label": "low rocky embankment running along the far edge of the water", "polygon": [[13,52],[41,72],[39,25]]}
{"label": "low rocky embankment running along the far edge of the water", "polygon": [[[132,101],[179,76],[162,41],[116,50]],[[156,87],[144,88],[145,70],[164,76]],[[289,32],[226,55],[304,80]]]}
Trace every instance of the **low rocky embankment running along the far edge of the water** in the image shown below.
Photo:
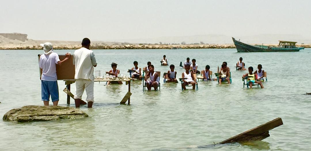
{"label": "low rocky embankment running along the far edge of the water", "polygon": [[[255,45],[255,44],[252,44]],[[258,45],[258,44],[257,44]],[[259,44],[261,45],[261,44]],[[264,44],[265,45],[265,44]],[[278,44],[266,44],[267,46],[278,46]],[[209,45],[91,45],[92,50],[105,50],[105,49],[230,49],[236,48],[234,44],[209,44]],[[296,45],[296,47],[311,48],[311,44]],[[55,45],[54,50],[75,50],[80,49],[81,45]],[[42,50],[42,46],[2,46],[0,50]]]}

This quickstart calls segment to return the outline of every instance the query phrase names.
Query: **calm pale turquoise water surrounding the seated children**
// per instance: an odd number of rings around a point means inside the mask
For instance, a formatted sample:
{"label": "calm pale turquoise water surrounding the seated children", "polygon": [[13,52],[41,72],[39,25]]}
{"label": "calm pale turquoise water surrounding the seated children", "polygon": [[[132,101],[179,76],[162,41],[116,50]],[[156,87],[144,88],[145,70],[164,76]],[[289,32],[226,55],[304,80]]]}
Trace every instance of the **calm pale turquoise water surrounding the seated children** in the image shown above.
{"label": "calm pale turquoise water surrounding the seated children", "polygon": [[[78,120],[15,123],[0,121],[0,150],[310,150],[311,92],[309,61],[311,49],[288,53],[236,53],[235,49],[198,50],[94,50],[95,70],[108,71],[118,63],[121,74],[138,61],[147,61],[156,71],[165,54],[176,66],[178,77],[184,71],[180,61],[195,58],[199,70],[208,64],[228,62],[232,84],[199,82],[198,90],[181,90],[181,85],[163,84],[158,92],[143,92],[142,82],[132,82],[131,105],[118,104],[127,93],[127,85],[95,83],[90,115]],[[58,54],[74,50],[55,50]],[[37,54],[43,50],[0,51],[0,115],[26,105],[43,105]],[[265,88],[243,88],[241,77],[247,71],[235,71],[243,57],[246,67],[262,64],[267,71]],[[214,76],[213,76],[214,77]],[[60,106],[66,106],[63,81],[58,81]],[[75,92],[72,84],[72,92]],[[85,100],[86,95],[83,96]],[[74,103],[73,100],[71,100]],[[74,107],[74,104],[70,106]],[[284,125],[270,131],[270,137],[249,144],[216,145],[231,136],[281,117]],[[207,145],[207,146],[204,146]],[[203,146],[205,148],[197,148]]]}

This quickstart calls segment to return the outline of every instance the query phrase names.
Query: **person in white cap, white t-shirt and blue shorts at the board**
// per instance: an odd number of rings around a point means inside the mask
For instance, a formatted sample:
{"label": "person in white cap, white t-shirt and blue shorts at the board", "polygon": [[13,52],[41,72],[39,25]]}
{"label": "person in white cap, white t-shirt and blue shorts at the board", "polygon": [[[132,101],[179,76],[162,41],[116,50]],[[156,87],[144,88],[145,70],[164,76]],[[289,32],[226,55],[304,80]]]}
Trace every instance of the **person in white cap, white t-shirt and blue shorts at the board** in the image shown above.
{"label": "person in white cap, white t-shirt and blue shorts at the board", "polygon": [[70,54],[66,53],[66,58],[59,60],[58,54],[53,52],[53,45],[49,42],[40,44],[43,46],[44,54],[40,55],[39,67],[41,70],[41,99],[45,106],[49,106],[51,96],[54,106],[58,105],[59,93],[56,75],[56,64],[61,65],[70,58]]}

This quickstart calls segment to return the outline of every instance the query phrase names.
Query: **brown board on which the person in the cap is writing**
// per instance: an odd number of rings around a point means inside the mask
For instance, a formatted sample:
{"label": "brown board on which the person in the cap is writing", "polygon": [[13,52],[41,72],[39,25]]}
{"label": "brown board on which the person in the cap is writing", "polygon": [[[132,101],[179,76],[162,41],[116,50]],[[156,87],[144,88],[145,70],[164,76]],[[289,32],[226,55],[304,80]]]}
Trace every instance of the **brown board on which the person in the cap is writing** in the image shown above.
{"label": "brown board on which the person in the cap is writing", "polygon": [[[58,55],[59,60],[63,60],[66,58],[66,56]],[[40,54],[38,54],[38,60],[40,59]],[[41,76],[41,70],[39,68],[40,76]],[[75,65],[73,65],[73,55],[70,55],[69,60],[62,63],[62,65],[56,65],[56,74],[57,74],[57,80],[74,80],[75,79]]]}

